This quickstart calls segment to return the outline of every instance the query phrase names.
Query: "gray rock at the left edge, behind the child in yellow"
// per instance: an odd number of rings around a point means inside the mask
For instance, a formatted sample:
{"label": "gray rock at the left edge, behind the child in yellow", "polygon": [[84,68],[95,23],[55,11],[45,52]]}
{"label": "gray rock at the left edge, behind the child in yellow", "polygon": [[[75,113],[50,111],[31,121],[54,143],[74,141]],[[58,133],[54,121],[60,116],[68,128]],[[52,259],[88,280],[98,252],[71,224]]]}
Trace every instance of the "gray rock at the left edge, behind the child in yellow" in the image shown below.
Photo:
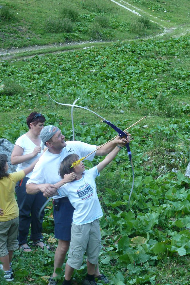
{"label": "gray rock at the left edge, behind the child in yellow", "polygon": [[8,164],[9,164],[9,170],[8,172],[15,172],[17,169],[17,165],[11,164],[11,153],[13,151],[14,144],[12,144],[7,139],[0,139],[0,154],[6,154],[8,157]]}

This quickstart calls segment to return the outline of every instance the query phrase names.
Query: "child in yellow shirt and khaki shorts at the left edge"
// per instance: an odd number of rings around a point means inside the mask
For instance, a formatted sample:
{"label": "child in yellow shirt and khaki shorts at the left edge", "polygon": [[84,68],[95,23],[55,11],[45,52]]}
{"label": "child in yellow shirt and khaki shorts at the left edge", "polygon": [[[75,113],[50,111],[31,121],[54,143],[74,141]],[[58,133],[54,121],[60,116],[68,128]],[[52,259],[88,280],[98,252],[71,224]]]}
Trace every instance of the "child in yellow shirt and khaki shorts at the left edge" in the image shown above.
{"label": "child in yellow shirt and khaki shorts at the left edge", "polygon": [[7,155],[0,154],[0,269],[4,270],[7,281],[14,280],[10,263],[13,251],[19,247],[19,208],[15,199],[15,185],[33,170],[37,161],[21,171],[9,174]]}

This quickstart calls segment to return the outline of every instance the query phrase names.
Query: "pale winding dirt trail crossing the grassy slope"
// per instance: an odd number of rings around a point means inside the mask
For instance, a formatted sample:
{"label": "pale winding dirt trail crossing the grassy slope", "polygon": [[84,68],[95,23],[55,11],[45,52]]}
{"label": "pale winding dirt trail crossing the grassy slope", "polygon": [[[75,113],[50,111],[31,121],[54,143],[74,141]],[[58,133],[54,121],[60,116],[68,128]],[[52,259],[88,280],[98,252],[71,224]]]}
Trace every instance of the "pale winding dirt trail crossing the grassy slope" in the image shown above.
{"label": "pale winding dirt trail crossing the grassy slope", "polygon": [[[164,22],[166,23],[168,21],[160,19],[158,17],[155,17],[154,15],[147,13],[146,11],[128,3],[127,1],[124,1],[124,0],[118,0],[118,1],[110,0],[110,1],[115,3],[116,5],[119,5],[120,7],[124,8],[124,9],[126,9],[127,11],[129,11],[133,14],[136,14],[139,17],[143,17],[144,15],[146,15],[146,16],[150,17],[150,21],[152,23],[156,23],[157,25],[160,26],[160,32],[159,33],[157,33],[155,35],[143,37],[143,39],[155,38],[158,36],[164,36],[166,34],[171,34],[171,36],[173,35],[175,37],[179,37],[179,36],[185,35],[188,32],[190,32],[189,27],[187,28],[185,25],[167,28],[167,27],[165,27]],[[168,23],[167,23],[167,25],[168,25]],[[175,34],[174,34],[174,30],[175,30]],[[36,54],[44,54],[47,52],[60,53],[60,52],[67,51],[67,50],[64,50],[64,47],[66,47],[66,46],[73,46],[73,49],[75,49],[76,46],[81,46],[81,45],[85,44],[85,47],[83,47],[83,49],[86,49],[86,48],[93,47],[92,46],[93,43],[105,43],[105,42],[103,42],[103,41],[71,42],[71,43],[65,43],[65,44],[60,43],[60,44],[47,44],[47,45],[43,45],[43,46],[38,46],[38,45],[28,46],[25,48],[11,48],[11,49],[7,49],[7,50],[0,49],[0,59],[1,60],[14,59],[14,56],[19,55],[19,54],[22,54],[21,57],[29,58],[31,56],[35,56]],[[112,42],[110,42],[110,43],[112,43]],[[90,44],[90,46],[86,46],[88,44]],[[63,47],[63,49],[60,49],[61,47]],[[52,48],[55,49],[55,51],[52,51]],[[57,50],[56,50],[56,48],[57,48]],[[49,51],[47,51],[47,49],[49,49]],[[42,52],[39,52],[40,50]],[[32,52],[32,51],[38,51],[38,53],[35,54],[35,52],[34,52],[33,55],[29,55],[29,56],[23,55],[24,52]],[[72,50],[70,50],[70,51],[72,51]]]}

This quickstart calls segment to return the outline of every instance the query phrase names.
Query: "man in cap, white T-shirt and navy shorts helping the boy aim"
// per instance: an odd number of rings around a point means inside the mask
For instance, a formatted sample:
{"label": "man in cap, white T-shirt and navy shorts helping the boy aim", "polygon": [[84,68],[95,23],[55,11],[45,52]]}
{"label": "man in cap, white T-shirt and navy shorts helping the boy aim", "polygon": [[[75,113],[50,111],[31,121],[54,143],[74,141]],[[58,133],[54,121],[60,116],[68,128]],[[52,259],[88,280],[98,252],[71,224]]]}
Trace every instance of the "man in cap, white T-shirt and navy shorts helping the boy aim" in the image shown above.
{"label": "man in cap, white T-shirt and navy shorts helping the boy aim", "polygon": [[[129,134],[127,133],[127,135]],[[62,160],[68,156],[68,154],[72,153],[77,154],[80,159],[90,152],[93,152],[97,146],[82,143],[80,141],[68,141],[66,143],[65,137],[62,135],[60,129],[54,126],[44,127],[40,133],[40,137],[43,143],[42,149],[44,148],[44,145],[46,145],[48,149],[37,162],[30,179],[26,184],[26,192],[28,194],[36,194],[41,191],[44,193],[44,196],[51,197],[54,196],[57,190],[54,184],[61,180],[58,170]],[[127,142],[129,141],[130,138],[127,137]],[[102,148],[98,149],[96,152],[93,152],[90,156],[88,156],[88,160],[93,160],[95,155],[102,156],[108,154],[118,143],[121,142],[126,144],[126,139],[120,139],[120,137],[117,137]],[[66,178],[64,178],[65,183],[71,182],[74,179],[74,173],[68,174]],[[57,276],[55,270],[58,267],[62,267],[66,253],[69,249],[71,239],[71,223],[74,211],[74,208],[67,197],[54,196],[53,198],[55,224],[54,233],[55,238],[58,239],[58,247],[55,252],[54,273],[50,278],[48,285],[57,284],[57,281],[54,279],[54,277]],[[109,282],[104,274],[100,274],[98,264],[95,270],[95,277],[99,280],[103,280],[105,284]],[[88,282],[88,280],[85,281],[87,281],[83,283],[85,285],[96,284],[95,282]]]}

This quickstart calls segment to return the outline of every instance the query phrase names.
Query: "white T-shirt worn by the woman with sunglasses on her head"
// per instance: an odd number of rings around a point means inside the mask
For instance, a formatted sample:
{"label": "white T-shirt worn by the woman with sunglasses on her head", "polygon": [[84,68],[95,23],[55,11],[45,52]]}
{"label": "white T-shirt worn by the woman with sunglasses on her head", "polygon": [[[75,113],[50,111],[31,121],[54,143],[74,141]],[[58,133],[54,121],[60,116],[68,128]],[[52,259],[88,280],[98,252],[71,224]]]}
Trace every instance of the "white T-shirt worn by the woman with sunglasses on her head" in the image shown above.
{"label": "white T-shirt worn by the woman with sunglasses on her head", "polygon": [[[22,135],[21,137],[19,137],[15,143],[16,145],[20,146],[23,148],[23,154],[29,154],[29,153],[32,153],[34,148],[36,147],[36,144],[34,144],[30,139],[29,137],[24,134]],[[42,146],[42,141],[40,143],[40,146]],[[41,150],[40,153],[38,153],[36,156],[34,156],[33,158],[30,158],[22,163],[19,163],[18,164],[18,167],[17,167],[17,171],[20,171],[20,170],[23,170],[24,168],[30,166],[30,164],[32,162],[34,162],[34,160],[36,160],[38,157],[40,157],[42,154],[43,154],[43,150]],[[32,175],[32,171],[29,172],[26,177],[30,177]]]}

